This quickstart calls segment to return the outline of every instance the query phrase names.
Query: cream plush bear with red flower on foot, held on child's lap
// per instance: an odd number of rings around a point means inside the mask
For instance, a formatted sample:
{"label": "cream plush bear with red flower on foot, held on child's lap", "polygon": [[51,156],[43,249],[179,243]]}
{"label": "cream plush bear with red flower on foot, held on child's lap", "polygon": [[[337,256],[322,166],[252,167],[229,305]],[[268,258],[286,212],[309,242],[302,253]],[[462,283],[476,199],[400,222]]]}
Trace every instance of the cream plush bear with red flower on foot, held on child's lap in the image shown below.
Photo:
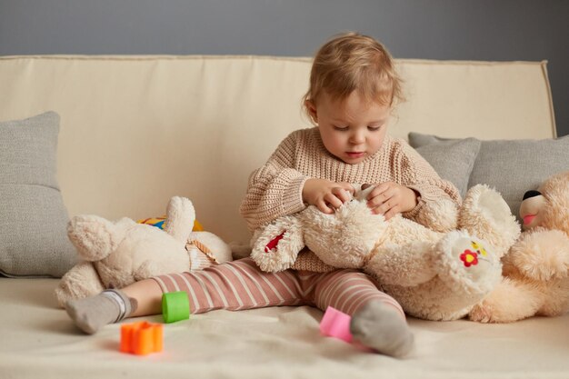
{"label": "cream plush bear with red flower on foot, held on child's lap", "polygon": [[500,258],[520,233],[500,194],[476,185],[458,212],[450,201],[425,204],[425,219],[462,228],[444,233],[401,215],[385,221],[372,214],[365,204],[372,189],[356,192],[334,214],[311,205],[267,224],[254,234],[252,258],[265,271],[280,271],[306,246],[324,264],[363,269],[407,314],[428,320],[464,317],[500,282]]}

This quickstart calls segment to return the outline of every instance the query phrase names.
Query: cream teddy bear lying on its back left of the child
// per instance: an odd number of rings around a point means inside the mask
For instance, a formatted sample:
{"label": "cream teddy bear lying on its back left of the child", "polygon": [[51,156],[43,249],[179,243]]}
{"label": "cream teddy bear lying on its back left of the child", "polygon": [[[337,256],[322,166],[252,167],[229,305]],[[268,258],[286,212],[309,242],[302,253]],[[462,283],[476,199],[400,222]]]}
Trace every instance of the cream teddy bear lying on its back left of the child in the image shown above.
{"label": "cream teddy bear lying on its back left of the child", "polygon": [[231,248],[217,235],[192,232],[195,209],[185,197],[173,197],[166,210],[165,230],[130,218],[111,222],[96,215],[77,215],[67,234],[82,262],[55,289],[60,306],[68,300],[123,288],[159,274],[201,268],[205,260],[232,260]]}

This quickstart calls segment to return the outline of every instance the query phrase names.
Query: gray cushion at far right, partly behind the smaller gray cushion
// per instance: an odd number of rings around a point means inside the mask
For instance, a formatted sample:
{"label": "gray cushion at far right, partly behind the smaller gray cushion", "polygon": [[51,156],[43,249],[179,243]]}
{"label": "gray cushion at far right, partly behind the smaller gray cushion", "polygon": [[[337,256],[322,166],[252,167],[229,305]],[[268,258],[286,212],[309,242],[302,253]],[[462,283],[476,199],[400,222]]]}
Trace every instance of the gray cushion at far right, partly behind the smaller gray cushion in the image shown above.
{"label": "gray cushion at far right, partly behind the smaller gray cushion", "polygon": [[[414,135],[414,145],[444,141],[453,140],[434,135]],[[526,191],[537,188],[549,176],[567,169],[569,135],[542,140],[481,141],[468,188],[481,183],[495,188],[517,216]]]}

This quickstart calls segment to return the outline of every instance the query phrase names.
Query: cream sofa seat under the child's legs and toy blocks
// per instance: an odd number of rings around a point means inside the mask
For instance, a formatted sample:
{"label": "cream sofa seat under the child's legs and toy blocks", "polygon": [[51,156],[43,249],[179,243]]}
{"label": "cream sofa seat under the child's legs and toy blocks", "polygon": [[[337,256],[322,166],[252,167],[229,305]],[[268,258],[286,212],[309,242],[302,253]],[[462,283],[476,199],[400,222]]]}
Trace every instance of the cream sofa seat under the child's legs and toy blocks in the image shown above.
{"label": "cream sofa seat under the child's legs and toy blocks", "polygon": [[164,351],[138,356],[118,351],[119,324],[95,335],[75,329],[56,307],[56,284],[0,279],[0,378],[569,378],[569,314],[515,324],[411,319],[416,349],[397,360],[322,336],[315,308],[214,311],[165,324]]}

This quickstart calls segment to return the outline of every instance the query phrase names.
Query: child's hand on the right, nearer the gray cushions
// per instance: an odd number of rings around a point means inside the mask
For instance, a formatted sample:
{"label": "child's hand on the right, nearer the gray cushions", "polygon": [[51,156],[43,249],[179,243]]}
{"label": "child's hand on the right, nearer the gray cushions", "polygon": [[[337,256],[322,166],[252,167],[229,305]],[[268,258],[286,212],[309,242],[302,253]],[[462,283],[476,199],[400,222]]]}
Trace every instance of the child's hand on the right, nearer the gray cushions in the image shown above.
{"label": "child's hand on the right, nearer the gray cushions", "polygon": [[417,205],[417,194],[411,188],[394,182],[384,182],[367,195],[367,206],[374,214],[389,220],[395,214],[411,211]]}

